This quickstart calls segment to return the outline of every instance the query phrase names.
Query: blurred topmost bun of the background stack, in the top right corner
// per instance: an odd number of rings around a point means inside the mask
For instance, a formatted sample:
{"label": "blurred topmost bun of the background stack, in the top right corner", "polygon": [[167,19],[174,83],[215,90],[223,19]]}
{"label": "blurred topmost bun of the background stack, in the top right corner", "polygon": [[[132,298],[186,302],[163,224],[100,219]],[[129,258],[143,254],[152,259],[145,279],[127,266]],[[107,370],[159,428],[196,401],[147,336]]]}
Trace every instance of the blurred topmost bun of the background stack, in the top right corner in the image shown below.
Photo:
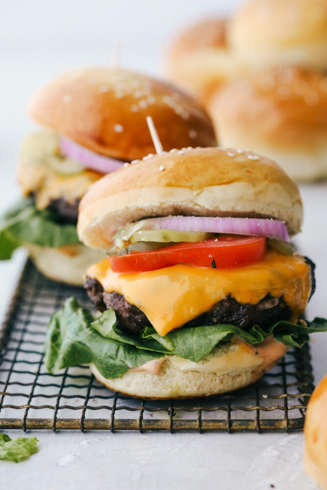
{"label": "blurred topmost bun of the background stack, in the top right corner", "polygon": [[229,43],[250,65],[327,69],[327,0],[251,0],[229,24]]}

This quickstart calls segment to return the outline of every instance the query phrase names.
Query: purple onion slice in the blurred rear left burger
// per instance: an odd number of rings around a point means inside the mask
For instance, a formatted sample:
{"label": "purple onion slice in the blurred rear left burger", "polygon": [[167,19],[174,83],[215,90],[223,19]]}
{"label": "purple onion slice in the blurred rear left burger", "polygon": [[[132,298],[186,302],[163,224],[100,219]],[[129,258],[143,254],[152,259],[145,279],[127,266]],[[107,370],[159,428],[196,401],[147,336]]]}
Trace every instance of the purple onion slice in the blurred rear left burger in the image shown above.
{"label": "purple onion slice in the blurred rear left burger", "polygon": [[123,167],[124,162],[117,160],[116,158],[110,158],[107,156],[99,155],[91,150],[88,150],[80,145],[77,145],[68,138],[59,138],[59,147],[63,155],[73,158],[84,167],[88,169],[96,170],[101,173],[114,172]]}

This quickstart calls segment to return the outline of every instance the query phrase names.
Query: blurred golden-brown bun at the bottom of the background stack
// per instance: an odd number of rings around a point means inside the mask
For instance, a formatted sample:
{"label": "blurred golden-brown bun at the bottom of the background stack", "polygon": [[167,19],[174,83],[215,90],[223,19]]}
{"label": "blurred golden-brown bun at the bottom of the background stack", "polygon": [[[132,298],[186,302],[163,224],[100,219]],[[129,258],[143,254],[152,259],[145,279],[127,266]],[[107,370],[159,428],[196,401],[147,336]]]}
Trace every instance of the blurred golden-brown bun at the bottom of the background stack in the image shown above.
{"label": "blurred golden-brown bun at the bottom of the background stack", "polygon": [[327,177],[327,76],[256,71],[214,94],[209,111],[224,146],[250,147],[299,180]]}

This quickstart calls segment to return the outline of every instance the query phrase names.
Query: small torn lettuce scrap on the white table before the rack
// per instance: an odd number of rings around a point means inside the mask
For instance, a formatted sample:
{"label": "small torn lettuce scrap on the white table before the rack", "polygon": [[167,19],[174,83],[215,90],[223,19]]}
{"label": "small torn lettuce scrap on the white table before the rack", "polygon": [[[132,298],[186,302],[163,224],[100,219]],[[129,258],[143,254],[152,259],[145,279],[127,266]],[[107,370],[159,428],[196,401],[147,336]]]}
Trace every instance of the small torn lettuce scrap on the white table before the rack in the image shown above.
{"label": "small torn lettuce scrap on the white table before the rack", "polygon": [[36,437],[18,437],[10,439],[7,434],[0,433],[0,460],[19,463],[38,452]]}

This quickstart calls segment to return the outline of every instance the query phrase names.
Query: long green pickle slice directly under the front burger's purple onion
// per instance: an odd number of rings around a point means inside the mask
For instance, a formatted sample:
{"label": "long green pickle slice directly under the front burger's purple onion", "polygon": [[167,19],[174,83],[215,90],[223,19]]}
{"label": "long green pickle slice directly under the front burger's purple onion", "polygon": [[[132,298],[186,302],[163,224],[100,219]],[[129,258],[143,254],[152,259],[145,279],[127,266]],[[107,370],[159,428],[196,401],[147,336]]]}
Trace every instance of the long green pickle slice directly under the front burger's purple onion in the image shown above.
{"label": "long green pickle slice directly under the front burger's purple onion", "polygon": [[203,242],[212,238],[214,233],[196,231],[174,231],[174,230],[140,230],[135,231],[129,237],[129,242]]}

